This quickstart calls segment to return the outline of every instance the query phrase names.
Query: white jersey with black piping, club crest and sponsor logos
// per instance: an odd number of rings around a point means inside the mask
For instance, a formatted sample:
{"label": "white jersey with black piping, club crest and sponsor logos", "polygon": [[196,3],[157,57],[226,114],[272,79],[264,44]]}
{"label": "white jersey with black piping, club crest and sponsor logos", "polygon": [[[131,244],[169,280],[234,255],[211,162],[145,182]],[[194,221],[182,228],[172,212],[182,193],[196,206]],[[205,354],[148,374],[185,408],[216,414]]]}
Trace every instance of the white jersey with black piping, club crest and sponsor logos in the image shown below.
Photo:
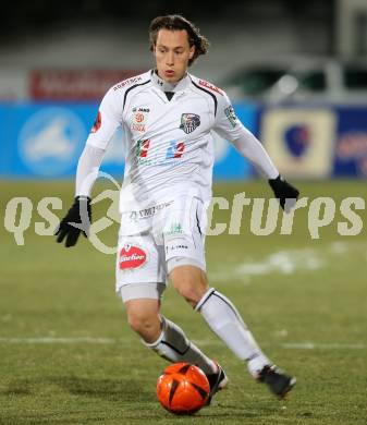
{"label": "white jersey with black piping, club crest and sponsor logos", "polygon": [[125,146],[122,212],[188,192],[210,199],[212,131],[233,142],[267,178],[278,175],[262,146],[237,120],[225,93],[191,74],[173,86],[149,71],[111,87],[87,145],[106,149],[119,125]]}

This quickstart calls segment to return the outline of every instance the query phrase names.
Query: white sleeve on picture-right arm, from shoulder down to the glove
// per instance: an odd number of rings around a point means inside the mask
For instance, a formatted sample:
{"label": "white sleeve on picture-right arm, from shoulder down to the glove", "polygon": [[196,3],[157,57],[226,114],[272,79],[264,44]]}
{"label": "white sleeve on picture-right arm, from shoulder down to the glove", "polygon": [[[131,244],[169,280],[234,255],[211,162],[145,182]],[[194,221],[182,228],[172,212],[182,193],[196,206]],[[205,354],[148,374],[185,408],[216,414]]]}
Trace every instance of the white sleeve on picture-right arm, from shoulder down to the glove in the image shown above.
{"label": "white sleeve on picture-right arm, from shoulder down to the glove", "polygon": [[218,96],[218,100],[213,130],[231,142],[237,151],[247,158],[265,178],[276,179],[279,171],[261,143],[237,119],[228,96],[225,94]]}

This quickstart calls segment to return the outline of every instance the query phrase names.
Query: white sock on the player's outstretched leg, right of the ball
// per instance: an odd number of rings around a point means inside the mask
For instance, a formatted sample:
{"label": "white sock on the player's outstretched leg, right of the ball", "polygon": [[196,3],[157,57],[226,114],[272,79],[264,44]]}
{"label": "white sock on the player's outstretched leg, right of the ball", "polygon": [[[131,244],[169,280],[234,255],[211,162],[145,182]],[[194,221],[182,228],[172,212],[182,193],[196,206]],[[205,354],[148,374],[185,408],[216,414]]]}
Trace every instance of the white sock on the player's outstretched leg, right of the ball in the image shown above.
{"label": "white sock on the player's outstretched leg, right of the ball", "polygon": [[257,377],[265,365],[271,364],[256,343],[235,306],[220,292],[210,288],[195,309],[201,313],[210,329],[227,347],[238,359],[247,362],[248,371],[253,376]]}

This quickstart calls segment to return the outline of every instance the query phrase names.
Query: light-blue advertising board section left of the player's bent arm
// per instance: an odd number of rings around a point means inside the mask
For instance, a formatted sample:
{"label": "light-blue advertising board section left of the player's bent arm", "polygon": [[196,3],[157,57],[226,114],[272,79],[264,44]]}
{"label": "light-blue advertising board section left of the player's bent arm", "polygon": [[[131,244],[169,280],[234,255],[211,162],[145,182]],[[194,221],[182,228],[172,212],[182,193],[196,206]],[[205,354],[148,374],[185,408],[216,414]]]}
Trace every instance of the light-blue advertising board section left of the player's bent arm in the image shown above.
{"label": "light-blue advertising board section left of the player's bent arm", "polygon": [[50,179],[75,173],[95,106],[9,104],[3,108],[2,177]]}

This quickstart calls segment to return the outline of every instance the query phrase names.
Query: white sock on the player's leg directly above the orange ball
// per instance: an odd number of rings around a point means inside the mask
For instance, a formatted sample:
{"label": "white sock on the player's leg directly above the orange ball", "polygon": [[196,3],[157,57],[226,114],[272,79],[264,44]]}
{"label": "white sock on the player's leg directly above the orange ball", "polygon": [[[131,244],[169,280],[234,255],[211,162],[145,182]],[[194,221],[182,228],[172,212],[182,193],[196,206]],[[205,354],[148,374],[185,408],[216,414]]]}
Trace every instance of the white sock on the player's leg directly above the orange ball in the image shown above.
{"label": "white sock on the player's leg directly above the orange ball", "polygon": [[217,365],[207,357],[193,342],[191,342],[183,330],[173,321],[162,318],[162,332],[152,343],[142,342],[156,351],[161,357],[172,363],[186,362],[194,364],[206,374],[217,372]]}

